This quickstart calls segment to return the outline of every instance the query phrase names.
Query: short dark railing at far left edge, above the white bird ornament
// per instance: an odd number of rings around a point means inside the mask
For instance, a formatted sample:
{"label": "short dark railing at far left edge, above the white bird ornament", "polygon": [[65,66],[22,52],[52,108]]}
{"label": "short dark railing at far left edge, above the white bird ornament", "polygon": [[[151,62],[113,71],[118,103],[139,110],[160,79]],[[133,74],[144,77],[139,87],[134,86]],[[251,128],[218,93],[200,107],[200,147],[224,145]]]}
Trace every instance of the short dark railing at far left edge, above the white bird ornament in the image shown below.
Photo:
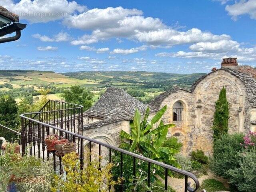
{"label": "short dark railing at far left edge, above the white bird ornament", "polygon": [[[17,140],[17,142],[20,144],[20,136],[20,132],[17,132],[0,124],[0,137],[3,137],[7,142],[12,143],[14,142],[14,140]],[[0,155],[4,154],[4,149],[2,148],[3,142],[4,140],[0,140]]]}

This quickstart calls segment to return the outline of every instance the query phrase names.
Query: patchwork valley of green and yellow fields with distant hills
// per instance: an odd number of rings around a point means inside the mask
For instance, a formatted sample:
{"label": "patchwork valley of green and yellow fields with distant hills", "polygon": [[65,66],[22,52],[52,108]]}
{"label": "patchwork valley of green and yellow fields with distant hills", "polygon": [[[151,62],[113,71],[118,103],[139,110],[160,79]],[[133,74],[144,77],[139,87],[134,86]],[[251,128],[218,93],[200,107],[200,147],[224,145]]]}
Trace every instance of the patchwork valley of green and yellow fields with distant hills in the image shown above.
{"label": "patchwork valley of green and yellow fields with distant hills", "polygon": [[103,88],[114,86],[123,88],[142,102],[149,102],[161,92],[174,85],[185,88],[204,73],[169,74],[144,71],[105,71],[55,73],[33,70],[0,70],[0,95],[11,94],[17,102],[33,95],[40,98],[40,89],[50,89],[52,100],[63,100],[61,93],[72,85],[80,85],[94,93],[93,101],[100,97]]}

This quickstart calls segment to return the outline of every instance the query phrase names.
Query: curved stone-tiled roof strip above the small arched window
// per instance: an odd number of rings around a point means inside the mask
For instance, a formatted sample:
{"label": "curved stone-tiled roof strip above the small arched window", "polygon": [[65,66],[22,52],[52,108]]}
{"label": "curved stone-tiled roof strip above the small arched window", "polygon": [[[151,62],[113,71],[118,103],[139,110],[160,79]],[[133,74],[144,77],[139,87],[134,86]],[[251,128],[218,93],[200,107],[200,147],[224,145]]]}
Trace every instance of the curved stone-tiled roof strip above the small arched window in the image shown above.
{"label": "curved stone-tiled roof strip above the small arched window", "polygon": [[190,92],[190,90],[188,89],[184,89],[184,88],[180,88],[178,86],[175,86],[173,88],[171,88],[168,91],[165,91],[163,93],[161,93],[160,95],[156,96],[156,98],[154,98],[151,102],[150,102],[150,107],[154,108],[154,109],[159,109],[160,105],[162,104],[163,100],[168,97],[170,94],[178,91],[178,90],[184,90],[187,92]]}

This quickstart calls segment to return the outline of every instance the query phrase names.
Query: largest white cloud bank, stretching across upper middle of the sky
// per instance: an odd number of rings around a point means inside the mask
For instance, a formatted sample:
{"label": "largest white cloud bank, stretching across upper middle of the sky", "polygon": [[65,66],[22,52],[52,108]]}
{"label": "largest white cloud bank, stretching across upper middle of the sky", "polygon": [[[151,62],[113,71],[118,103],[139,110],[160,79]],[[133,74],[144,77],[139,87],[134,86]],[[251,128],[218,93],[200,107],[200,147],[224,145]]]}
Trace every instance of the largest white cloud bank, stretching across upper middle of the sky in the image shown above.
{"label": "largest white cloud bank, stretching across upper middle of the sky", "polygon": [[68,27],[92,30],[71,42],[72,45],[92,44],[110,38],[139,41],[151,46],[170,47],[177,44],[230,40],[226,34],[216,35],[197,28],[178,31],[159,18],[144,17],[143,12],[122,7],[92,9],[64,20]]}

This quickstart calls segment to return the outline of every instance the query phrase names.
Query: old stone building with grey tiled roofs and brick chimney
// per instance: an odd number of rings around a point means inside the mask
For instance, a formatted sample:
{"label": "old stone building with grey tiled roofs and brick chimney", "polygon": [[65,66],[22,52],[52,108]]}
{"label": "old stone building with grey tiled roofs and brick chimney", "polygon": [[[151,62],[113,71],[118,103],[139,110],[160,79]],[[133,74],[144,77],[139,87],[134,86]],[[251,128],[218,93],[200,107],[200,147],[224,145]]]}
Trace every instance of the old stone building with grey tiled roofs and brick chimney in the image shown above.
{"label": "old stone building with grey tiled roofs and brick chimney", "polygon": [[[168,136],[183,143],[184,154],[202,149],[212,154],[212,124],[215,102],[222,87],[230,102],[229,132],[256,131],[256,69],[239,66],[236,58],[225,58],[221,68],[196,80],[190,89],[174,87],[150,102],[152,115],[168,106],[164,123],[174,123]],[[84,135],[118,144],[120,130],[129,131],[135,108],[148,107],[118,88],[108,88],[100,100],[85,112]]]}

